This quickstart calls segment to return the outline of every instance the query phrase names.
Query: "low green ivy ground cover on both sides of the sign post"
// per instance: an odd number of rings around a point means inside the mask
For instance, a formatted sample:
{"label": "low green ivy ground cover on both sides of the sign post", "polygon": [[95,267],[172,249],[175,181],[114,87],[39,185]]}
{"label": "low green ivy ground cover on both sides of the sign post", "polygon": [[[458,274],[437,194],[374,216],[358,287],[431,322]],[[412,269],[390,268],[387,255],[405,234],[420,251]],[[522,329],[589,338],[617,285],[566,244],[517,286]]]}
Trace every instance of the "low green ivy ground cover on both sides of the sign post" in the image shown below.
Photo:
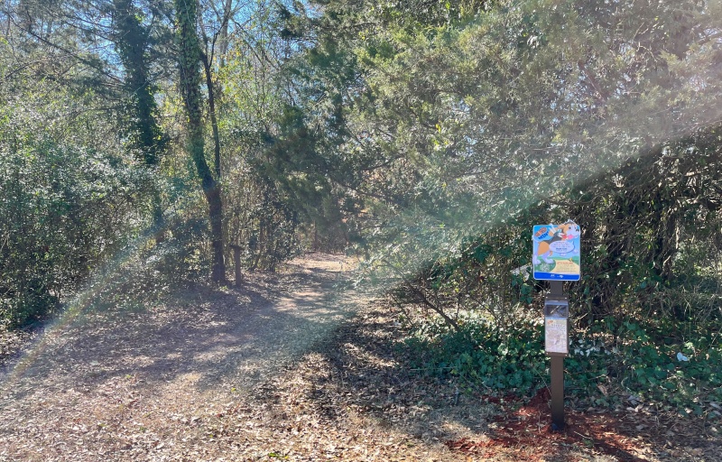
{"label": "low green ivy ground cover on both sides of the sign post", "polygon": [[[404,320],[411,313],[406,310]],[[425,374],[455,376],[492,395],[532,396],[549,383],[543,316],[526,313],[513,332],[488,319],[449,328],[438,319],[417,323],[407,344]],[[413,316],[413,315],[412,315]],[[682,415],[722,417],[719,326],[667,319],[602,319],[573,328],[565,359],[565,391],[588,406],[644,404]],[[634,406],[633,406],[634,407]]]}

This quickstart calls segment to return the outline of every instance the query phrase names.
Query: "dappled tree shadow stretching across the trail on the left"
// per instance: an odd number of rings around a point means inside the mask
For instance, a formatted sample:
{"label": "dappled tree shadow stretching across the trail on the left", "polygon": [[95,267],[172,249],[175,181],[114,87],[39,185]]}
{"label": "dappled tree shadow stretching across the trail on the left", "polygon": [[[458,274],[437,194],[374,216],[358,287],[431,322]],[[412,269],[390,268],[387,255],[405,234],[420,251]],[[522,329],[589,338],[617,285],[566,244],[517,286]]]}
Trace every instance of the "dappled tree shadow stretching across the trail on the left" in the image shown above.
{"label": "dappled tree shadow stretching across the trail on the left", "polygon": [[48,329],[5,377],[5,400],[23,399],[48,380],[62,390],[127,375],[151,384],[193,374],[202,391],[241,372],[243,382],[254,383],[277,366],[268,361],[291,360],[351,313],[337,300],[338,271],[289,270],[259,275],[240,289],[190,284],[151,308],[91,307],[69,326]]}

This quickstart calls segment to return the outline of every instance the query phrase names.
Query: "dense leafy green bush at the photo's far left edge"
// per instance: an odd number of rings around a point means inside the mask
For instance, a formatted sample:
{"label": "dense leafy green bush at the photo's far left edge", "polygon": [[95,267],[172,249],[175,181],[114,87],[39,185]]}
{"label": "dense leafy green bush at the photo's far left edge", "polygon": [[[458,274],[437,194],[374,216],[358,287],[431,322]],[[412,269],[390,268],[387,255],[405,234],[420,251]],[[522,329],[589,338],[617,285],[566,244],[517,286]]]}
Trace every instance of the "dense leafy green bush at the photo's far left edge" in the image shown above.
{"label": "dense leafy green bush at the photo's far left edge", "polygon": [[122,159],[0,125],[0,317],[20,325],[55,308],[125,244],[148,184]]}

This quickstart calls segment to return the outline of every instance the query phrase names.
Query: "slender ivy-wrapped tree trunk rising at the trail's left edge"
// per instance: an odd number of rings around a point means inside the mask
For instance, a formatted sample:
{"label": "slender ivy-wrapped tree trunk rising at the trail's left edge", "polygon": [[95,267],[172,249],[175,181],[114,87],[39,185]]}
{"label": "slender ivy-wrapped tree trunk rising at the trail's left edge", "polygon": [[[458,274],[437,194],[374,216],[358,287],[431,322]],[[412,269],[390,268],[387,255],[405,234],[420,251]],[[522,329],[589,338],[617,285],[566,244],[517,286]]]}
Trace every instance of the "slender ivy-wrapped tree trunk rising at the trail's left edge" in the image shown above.
{"label": "slender ivy-wrapped tree trunk rising at the trail's left edge", "polygon": [[208,167],[203,138],[203,110],[200,94],[200,60],[196,22],[198,0],[175,0],[177,14],[177,38],[179,45],[180,96],[188,113],[188,144],[190,156],[208,201],[211,248],[213,252],[212,278],[215,282],[226,281],[226,263],[223,255],[223,204],[218,181]]}

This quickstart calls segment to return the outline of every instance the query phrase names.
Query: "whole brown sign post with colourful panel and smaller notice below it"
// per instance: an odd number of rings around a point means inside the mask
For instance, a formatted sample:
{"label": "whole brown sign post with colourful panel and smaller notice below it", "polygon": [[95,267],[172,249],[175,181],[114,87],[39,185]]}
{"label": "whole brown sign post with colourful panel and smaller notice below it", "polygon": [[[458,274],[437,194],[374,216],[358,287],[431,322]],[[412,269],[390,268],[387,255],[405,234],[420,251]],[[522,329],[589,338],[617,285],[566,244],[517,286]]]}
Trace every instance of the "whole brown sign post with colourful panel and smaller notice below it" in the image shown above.
{"label": "whole brown sign post with colourful panel and smaller notice below it", "polygon": [[544,300],[544,350],[551,362],[551,430],[564,429],[564,358],[569,355],[569,299],[564,281],[579,281],[580,230],[573,221],[532,230],[533,276],[550,281]]}

